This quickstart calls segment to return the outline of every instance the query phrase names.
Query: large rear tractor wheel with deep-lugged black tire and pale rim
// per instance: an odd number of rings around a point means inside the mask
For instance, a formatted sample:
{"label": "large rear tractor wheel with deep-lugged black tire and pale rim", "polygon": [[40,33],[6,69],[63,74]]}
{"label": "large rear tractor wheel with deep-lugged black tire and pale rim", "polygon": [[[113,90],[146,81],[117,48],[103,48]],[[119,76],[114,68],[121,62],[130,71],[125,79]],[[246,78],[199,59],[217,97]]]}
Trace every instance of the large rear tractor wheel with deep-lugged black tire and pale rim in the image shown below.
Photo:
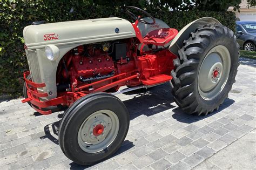
{"label": "large rear tractor wheel with deep-lugged black tire and pale rim", "polygon": [[239,45],[223,25],[205,25],[191,32],[173,60],[172,94],[188,114],[218,110],[227,98],[239,66]]}

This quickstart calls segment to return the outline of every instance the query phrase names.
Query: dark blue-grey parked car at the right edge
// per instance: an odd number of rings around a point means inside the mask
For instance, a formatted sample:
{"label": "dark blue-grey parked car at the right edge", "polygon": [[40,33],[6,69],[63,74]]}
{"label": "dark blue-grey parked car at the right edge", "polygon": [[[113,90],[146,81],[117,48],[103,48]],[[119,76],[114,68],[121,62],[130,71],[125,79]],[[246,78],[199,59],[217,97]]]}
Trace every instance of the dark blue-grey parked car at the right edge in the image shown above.
{"label": "dark blue-grey parked car at the right edge", "polygon": [[236,24],[237,42],[240,47],[247,51],[255,51],[256,22],[238,21]]}

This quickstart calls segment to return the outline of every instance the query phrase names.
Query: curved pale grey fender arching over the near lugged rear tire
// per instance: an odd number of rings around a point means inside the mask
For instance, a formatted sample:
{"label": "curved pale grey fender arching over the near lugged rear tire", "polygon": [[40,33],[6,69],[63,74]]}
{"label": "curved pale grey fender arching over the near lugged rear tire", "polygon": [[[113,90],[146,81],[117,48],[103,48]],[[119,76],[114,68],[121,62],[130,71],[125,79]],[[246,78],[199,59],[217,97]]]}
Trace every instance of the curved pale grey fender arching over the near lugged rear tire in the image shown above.
{"label": "curved pale grey fender arching over the near lugged rear tire", "polygon": [[221,25],[221,23],[215,18],[211,18],[211,17],[199,18],[187,24],[186,26],[184,26],[183,29],[179,31],[177,36],[173,38],[171,45],[169,46],[169,50],[178,56],[178,50],[181,49],[181,47],[183,47],[184,39],[188,39],[190,37],[191,32],[195,32],[198,27],[202,27],[206,24]]}

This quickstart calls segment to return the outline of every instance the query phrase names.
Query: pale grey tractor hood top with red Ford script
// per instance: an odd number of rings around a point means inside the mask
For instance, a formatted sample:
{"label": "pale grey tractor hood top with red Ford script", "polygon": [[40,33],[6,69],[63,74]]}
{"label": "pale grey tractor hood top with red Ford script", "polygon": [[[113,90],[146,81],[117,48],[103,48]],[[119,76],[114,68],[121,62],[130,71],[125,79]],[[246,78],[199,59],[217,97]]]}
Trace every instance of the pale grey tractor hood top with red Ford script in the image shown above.
{"label": "pale grey tractor hood top with red Ford script", "polygon": [[111,17],[29,25],[24,28],[23,36],[28,49],[36,49],[48,44],[88,44],[131,38],[136,37],[136,33],[129,21]]}

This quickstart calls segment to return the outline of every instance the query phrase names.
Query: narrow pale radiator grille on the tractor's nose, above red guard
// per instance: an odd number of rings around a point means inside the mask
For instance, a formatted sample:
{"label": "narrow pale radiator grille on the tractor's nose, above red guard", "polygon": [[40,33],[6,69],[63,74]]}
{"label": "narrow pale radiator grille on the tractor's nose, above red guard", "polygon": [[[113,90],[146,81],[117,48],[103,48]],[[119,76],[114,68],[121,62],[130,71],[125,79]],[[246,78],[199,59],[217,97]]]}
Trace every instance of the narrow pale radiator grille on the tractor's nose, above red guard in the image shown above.
{"label": "narrow pale radiator grille on the tractor's nose, above red guard", "polygon": [[32,76],[32,80],[35,83],[42,83],[36,51],[27,50],[26,57],[28,58],[29,70]]}

